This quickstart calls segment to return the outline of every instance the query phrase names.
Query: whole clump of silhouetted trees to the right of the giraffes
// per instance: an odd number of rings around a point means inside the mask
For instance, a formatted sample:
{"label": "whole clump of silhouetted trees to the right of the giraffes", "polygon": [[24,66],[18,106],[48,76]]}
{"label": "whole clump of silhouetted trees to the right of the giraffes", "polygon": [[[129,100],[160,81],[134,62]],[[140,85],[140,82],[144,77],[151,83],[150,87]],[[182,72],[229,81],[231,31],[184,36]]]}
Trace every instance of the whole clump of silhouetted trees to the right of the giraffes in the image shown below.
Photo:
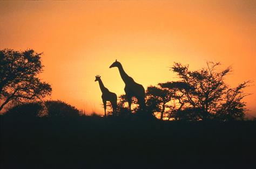
{"label": "whole clump of silhouetted trees to the right of the giraffes", "polygon": [[[219,63],[207,62],[207,68],[190,71],[188,66],[174,64],[172,71],[180,81],[159,83],[147,88],[147,105],[154,112],[160,112],[167,119],[199,121],[218,119],[233,121],[243,119],[247,96],[243,89],[250,81],[230,88],[225,76],[231,71],[228,67],[218,71]],[[166,110],[166,108],[168,108]]]}

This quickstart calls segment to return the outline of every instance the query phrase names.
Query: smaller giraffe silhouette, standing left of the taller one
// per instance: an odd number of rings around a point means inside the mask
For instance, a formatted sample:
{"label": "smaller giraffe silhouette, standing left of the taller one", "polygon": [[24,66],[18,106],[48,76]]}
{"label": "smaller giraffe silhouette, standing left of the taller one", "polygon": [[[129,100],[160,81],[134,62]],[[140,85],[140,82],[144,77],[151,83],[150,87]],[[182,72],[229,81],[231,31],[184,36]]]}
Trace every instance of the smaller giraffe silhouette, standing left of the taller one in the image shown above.
{"label": "smaller giraffe silhouette, standing left of the taller one", "polygon": [[117,95],[115,93],[112,93],[107,89],[104,85],[102,80],[100,79],[100,76],[97,75],[95,76],[95,81],[99,82],[99,88],[102,90],[102,101],[104,104],[104,112],[105,112],[105,117],[106,117],[106,101],[110,101],[113,109],[113,116],[116,116],[116,110],[117,110]]}

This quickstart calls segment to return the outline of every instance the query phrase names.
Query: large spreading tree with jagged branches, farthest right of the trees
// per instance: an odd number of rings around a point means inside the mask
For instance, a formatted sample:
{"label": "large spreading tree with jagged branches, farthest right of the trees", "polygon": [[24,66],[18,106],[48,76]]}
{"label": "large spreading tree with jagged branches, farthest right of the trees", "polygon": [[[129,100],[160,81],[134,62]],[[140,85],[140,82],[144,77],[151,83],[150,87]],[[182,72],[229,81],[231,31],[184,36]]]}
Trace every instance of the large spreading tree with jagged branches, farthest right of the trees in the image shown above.
{"label": "large spreading tree with jagged branches, farthest right of the trees", "polygon": [[247,94],[242,89],[248,81],[241,83],[237,88],[228,88],[224,77],[231,71],[228,67],[223,71],[216,70],[220,63],[207,62],[207,68],[199,71],[189,71],[188,65],[175,63],[172,71],[177,73],[180,82],[186,84],[180,88],[184,102],[189,103],[187,108],[197,110],[200,119],[219,117],[220,119],[242,118],[245,103],[242,102]]}

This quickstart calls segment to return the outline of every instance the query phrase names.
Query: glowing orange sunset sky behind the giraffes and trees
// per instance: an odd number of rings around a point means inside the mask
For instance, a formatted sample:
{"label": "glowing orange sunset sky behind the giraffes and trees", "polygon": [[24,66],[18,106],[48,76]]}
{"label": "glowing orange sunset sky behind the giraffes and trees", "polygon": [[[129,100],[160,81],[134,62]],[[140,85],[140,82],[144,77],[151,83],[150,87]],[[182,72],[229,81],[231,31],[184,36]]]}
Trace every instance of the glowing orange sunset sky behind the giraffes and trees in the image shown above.
{"label": "glowing orange sunset sky behind the giraffes and trees", "polygon": [[[145,89],[177,80],[169,71],[174,61],[192,69],[206,61],[232,66],[226,79],[232,87],[256,79],[253,0],[1,1],[0,21],[0,48],[44,52],[41,78],[52,85],[51,98],[89,113],[103,113],[95,75],[124,94],[117,68],[109,69],[115,59]],[[253,115],[255,100],[255,94],[245,99]]]}

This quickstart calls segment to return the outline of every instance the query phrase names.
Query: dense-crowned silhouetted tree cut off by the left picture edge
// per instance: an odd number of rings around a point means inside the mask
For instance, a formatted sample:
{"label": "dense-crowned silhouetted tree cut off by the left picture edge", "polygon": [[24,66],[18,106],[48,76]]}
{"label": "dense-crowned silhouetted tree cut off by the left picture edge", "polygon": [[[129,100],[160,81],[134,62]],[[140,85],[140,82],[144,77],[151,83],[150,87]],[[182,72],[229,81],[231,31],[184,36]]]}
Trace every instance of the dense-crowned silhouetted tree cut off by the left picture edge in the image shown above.
{"label": "dense-crowned silhouetted tree cut off by the left picture edge", "polygon": [[41,54],[33,50],[0,51],[0,110],[7,103],[36,100],[51,94],[51,86],[42,82]]}

